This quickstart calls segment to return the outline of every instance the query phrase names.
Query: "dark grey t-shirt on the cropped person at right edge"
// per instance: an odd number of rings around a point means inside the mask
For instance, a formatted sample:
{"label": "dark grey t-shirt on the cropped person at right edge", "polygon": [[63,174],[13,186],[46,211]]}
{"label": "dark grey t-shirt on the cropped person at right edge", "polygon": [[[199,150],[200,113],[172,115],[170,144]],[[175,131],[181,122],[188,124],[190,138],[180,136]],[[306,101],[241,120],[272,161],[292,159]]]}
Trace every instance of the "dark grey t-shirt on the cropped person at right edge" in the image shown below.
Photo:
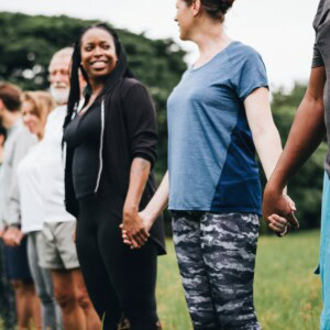
{"label": "dark grey t-shirt on the cropped person at right edge", "polygon": [[[326,67],[327,77],[330,77],[330,0],[321,0],[314,20],[316,41],[311,67]],[[324,169],[330,176],[330,84],[327,79],[324,88],[326,127],[328,138],[328,154]]]}

